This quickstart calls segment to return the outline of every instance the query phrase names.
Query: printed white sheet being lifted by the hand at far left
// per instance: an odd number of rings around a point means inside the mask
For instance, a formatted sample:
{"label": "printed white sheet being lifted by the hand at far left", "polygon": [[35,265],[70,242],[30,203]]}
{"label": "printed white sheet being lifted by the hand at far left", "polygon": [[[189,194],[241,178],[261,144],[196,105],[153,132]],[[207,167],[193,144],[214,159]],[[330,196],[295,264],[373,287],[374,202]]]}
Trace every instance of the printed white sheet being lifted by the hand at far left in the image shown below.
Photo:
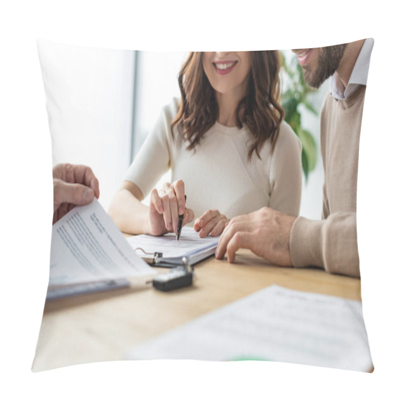
{"label": "printed white sheet being lifted by the hand at far left", "polygon": [[96,198],[75,207],[52,227],[50,288],[154,273]]}

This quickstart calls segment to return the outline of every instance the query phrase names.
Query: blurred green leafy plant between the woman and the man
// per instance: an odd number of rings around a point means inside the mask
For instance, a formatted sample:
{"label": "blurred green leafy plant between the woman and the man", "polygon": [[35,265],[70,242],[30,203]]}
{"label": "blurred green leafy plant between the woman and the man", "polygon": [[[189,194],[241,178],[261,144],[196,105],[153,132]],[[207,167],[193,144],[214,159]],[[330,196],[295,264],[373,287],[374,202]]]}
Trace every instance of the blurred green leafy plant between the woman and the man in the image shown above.
{"label": "blurred green leafy plant between the woman and the man", "polygon": [[318,115],[318,111],[316,111],[307,98],[308,94],[316,90],[311,89],[305,83],[302,69],[297,58],[292,58],[292,60],[288,62],[286,57],[281,53],[281,69],[286,73],[281,104],[286,111],[285,121],[290,125],[301,141],[302,170],[305,175],[305,180],[307,181],[309,173],[316,165],[317,150],[313,135],[301,127],[299,106],[303,105],[307,110]]}

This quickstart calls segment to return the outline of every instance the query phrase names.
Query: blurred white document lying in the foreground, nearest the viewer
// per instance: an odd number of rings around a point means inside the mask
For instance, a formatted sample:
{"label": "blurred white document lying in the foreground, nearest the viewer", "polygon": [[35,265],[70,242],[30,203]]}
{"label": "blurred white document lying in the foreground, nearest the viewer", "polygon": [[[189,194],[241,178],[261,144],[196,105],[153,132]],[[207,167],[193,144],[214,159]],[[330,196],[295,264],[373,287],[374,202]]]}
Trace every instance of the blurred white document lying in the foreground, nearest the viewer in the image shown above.
{"label": "blurred white document lying in the foreground, nearest the viewer", "polygon": [[370,371],[361,302],[271,286],[160,335],[128,359],[271,360]]}

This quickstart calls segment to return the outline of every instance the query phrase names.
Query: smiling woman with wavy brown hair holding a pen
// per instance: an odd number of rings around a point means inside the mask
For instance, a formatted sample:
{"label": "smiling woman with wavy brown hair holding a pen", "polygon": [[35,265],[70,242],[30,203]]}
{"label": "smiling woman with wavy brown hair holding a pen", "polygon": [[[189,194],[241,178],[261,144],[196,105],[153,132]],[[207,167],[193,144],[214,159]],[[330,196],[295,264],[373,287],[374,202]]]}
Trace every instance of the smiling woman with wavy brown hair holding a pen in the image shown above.
{"label": "smiling woman with wavy brown hair holding a pen", "polygon": [[[184,214],[207,236],[262,207],[298,215],[301,144],[283,121],[279,69],[277,51],[189,54],[181,99],[163,108],[112,200],[122,231],[176,233]],[[152,189],[169,169],[171,183]]]}

